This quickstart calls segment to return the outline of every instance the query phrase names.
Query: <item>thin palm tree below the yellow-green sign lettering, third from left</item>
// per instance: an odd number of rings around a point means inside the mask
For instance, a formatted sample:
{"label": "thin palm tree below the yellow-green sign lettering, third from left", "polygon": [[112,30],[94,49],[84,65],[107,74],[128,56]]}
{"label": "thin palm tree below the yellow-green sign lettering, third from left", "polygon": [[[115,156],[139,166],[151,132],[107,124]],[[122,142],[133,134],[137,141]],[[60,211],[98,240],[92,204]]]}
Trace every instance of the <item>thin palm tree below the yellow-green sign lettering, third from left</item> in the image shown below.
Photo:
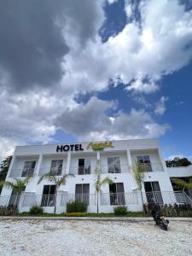
{"label": "thin palm tree below the yellow-green sign lettering, third from left", "polygon": [[102,189],[102,186],[105,184],[113,184],[113,180],[110,177],[105,177],[102,179],[102,166],[101,160],[96,161],[96,181],[95,181],[95,189],[96,189],[96,212],[99,213],[99,193]]}

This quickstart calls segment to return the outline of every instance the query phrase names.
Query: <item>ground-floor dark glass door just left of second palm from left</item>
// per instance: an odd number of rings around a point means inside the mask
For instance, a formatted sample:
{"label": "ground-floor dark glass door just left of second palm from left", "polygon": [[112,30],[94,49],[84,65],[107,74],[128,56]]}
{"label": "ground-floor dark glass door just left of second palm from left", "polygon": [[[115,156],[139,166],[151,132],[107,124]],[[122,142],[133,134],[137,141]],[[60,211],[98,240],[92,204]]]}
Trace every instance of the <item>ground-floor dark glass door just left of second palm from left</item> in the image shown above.
{"label": "ground-floor dark glass door just left of second palm from left", "polygon": [[42,207],[55,207],[55,185],[44,185]]}

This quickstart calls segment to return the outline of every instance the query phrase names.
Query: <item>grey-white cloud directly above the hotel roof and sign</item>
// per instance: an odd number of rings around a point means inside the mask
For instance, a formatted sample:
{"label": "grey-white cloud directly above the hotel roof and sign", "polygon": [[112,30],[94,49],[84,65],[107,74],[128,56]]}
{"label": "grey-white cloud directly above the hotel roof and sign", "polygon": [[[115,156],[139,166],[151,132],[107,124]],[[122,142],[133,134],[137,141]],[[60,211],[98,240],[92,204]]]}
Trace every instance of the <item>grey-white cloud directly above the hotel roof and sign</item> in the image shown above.
{"label": "grey-white cloud directly above the hotel roof and sign", "polygon": [[[131,109],[130,113],[116,111],[117,103],[90,98],[71,110],[65,110],[58,117],[56,125],[64,131],[73,133],[80,140],[133,139],[159,137],[169,128],[160,125],[143,109]],[[113,112],[108,115],[109,112]]]}

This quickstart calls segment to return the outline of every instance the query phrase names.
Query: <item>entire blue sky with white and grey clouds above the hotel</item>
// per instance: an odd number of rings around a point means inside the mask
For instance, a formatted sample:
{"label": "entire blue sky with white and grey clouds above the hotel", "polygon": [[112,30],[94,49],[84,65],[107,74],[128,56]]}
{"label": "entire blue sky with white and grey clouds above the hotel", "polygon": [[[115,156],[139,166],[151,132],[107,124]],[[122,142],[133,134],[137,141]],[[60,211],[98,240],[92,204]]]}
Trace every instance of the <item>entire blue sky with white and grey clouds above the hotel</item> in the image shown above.
{"label": "entire blue sky with white and grey clouds above the hotel", "polygon": [[0,158],[148,137],[192,157],[190,0],[6,0],[0,16]]}

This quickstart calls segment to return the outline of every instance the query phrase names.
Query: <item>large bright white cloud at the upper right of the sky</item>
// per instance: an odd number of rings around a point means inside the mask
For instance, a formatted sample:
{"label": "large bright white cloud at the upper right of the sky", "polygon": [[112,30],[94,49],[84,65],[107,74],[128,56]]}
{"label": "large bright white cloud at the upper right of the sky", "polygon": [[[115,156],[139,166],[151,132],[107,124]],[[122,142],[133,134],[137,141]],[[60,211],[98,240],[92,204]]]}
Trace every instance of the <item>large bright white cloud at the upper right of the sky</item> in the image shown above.
{"label": "large bright white cloud at the upper right of the sky", "polygon": [[189,62],[192,12],[185,12],[176,0],[146,1],[139,11],[141,25],[135,21],[126,24],[105,44],[97,37],[80,49],[70,34],[66,35],[71,49],[63,62],[65,90],[100,91],[108,88],[108,79],[115,84],[121,79],[127,90],[151,93],[158,90],[162,75]]}

